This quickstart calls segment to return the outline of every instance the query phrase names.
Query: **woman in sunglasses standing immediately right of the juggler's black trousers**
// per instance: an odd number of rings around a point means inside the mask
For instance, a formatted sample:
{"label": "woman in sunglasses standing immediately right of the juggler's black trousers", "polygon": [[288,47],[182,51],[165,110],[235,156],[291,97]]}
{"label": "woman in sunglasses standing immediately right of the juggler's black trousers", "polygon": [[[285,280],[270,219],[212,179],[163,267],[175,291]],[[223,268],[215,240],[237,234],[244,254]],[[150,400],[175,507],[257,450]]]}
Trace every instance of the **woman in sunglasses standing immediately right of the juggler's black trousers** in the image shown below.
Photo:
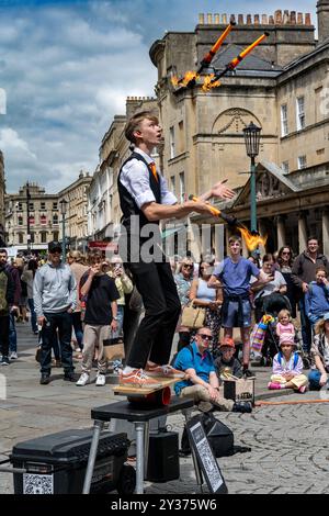
{"label": "woman in sunglasses standing immediately right of the juggler's black trousers", "polygon": [[[190,302],[190,291],[193,281],[194,263],[191,258],[183,258],[178,274],[174,276],[174,282],[177,284],[177,291],[182,305],[182,310]],[[180,351],[184,346],[190,344],[191,330],[188,326],[181,326],[179,324],[178,332],[180,339],[178,341],[177,350]]]}

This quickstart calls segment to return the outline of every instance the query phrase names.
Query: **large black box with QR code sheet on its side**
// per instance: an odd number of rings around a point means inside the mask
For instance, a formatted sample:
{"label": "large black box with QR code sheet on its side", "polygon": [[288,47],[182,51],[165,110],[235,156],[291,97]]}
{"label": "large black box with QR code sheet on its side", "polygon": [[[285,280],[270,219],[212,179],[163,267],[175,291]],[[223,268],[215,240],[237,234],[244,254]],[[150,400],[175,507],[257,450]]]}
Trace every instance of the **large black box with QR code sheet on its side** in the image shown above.
{"label": "large black box with QR code sheet on its side", "polygon": [[[65,430],[15,445],[10,461],[26,473],[14,473],[14,494],[82,493],[92,434]],[[134,493],[135,470],[124,464],[129,445],[126,434],[101,434],[91,493]]]}

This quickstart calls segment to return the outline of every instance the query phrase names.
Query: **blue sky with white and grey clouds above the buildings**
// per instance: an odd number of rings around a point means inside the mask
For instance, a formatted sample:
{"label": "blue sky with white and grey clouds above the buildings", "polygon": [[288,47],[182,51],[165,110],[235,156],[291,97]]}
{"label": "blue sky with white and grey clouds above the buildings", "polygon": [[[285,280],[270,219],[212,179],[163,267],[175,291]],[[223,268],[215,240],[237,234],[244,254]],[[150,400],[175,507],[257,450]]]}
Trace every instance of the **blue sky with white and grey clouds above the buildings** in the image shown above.
{"label": "blue sky with white and grey clouds above the buildings", "polygon": [[[198,12],[311,12],[316,0],[0,0],[0,149],[7,191],[26,180],[57,192],[93,172],[100,142],[127,96],[151,96],[148,55]],[[3,93],[7,112],[3,114]]]}

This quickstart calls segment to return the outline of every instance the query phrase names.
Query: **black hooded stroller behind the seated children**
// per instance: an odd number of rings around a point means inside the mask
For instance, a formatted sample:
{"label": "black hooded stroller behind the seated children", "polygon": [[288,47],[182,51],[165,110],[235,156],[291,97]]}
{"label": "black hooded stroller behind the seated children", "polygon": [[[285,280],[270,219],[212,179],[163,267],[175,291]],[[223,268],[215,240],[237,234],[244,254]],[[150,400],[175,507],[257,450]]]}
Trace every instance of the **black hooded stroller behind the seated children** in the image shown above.
{"label": "black hooded stroller behind the seated children", "polygon": [[[263,315],[271,315],[272,317],[265,330],[264,340],[261,348],[261,356],[258,357],[257,364],[272,366],[274,356],[280,351],[279,337],[276,335],[277,314],[281,312],[281,310],[288,310],[291,312],[292,307],[290,300],[285,295],[275,292],[264,296],[259,309],[260,310],[258,311],[258,315],[261,315],[261,317]],[[261,317],[257,317],[257,319],[260,321]],[[295,332],[295,344],[297,348],[296,351],[300,355],[304,368],[309,369],[309,359],[304,352],[303,346],[300,346],[300,338],[297,330]]]}

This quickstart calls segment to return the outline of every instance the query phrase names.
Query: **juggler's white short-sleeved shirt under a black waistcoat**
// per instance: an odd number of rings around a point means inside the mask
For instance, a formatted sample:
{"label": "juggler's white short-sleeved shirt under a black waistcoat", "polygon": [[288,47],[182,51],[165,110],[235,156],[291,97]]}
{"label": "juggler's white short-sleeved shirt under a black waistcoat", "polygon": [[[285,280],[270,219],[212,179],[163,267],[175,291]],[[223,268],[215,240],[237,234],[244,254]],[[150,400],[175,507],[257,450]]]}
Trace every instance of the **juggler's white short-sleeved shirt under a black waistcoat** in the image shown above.
{"label": "juggler's white short-sleeved shirt under a black waistcoat", "polygon": [[[140,154],[148,165],[155,162],[154,159],[139,148],[135,148],[134,153]],[[168,190],[166,179],[157,170],[160,180],[161,204],[175,204],[178,202],[175,195]],[[138,160],[131,159],[122,169],[120,182],[129,192],[139,210],[148,202],[157,202],[149,184],[149,169]]]}

